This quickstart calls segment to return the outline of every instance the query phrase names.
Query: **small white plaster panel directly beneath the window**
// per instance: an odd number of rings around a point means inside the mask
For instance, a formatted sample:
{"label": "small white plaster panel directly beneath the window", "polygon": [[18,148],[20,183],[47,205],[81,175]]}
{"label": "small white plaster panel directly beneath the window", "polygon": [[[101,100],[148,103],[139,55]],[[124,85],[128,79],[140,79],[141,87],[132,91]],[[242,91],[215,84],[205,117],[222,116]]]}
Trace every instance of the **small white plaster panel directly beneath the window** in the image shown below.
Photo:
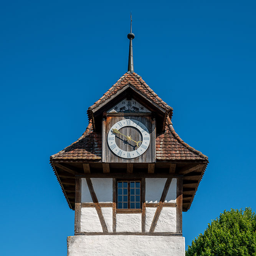
{"label": "small white plaster panel directly beneath the window", "polygon": [[141,213],[117,213],[116,232],[141,232]]}

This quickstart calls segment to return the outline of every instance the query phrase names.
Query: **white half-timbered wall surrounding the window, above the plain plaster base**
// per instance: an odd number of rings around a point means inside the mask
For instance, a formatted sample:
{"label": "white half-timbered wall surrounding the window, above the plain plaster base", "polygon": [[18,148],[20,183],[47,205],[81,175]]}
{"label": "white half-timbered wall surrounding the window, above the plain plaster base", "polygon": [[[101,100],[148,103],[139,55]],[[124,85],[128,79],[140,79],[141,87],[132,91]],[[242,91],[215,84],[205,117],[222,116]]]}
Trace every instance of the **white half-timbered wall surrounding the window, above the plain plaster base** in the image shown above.
{"label": "white half-timbered wall surrounding the window, above the plain plaster base", "polygon": [[[177,179],[145,178],[141,213],[117,213],[115,179],[81,178],[81,208],[76,211],[76,233],[181,233],[177,232]],[[78,183],[79,184],[79,183]],[[113,193],[114,192],[114,193]],[[114,197],[113,197],[114,194]],[[163,197],[164,195],[164,197]],[[78,199],[79,200],[79,199]],[[79,202],[77,202],[79,203]]]}

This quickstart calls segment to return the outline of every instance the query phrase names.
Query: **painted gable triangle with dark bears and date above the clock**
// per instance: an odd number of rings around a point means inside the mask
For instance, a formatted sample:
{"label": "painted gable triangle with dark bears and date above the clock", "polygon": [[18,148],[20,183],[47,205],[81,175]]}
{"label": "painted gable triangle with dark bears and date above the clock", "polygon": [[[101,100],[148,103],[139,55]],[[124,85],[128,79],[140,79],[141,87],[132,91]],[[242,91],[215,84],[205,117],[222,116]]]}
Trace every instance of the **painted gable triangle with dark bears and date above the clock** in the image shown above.
{"label": "painted gable triangle with dark bears and date above the clock", "polygon": [[108,113],[150,113],[150,111],[142,106],[134,99],[123,99],[113,106]]}

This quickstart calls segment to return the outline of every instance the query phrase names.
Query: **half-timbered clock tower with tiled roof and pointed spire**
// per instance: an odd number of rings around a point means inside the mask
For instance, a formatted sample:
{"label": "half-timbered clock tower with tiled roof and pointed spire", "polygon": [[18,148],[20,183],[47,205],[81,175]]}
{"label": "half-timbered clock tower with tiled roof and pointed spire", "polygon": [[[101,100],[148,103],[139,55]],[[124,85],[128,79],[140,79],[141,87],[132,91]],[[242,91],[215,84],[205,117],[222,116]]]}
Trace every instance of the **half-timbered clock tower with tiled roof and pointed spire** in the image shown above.
{"label": "half-timbered clock tower with tiled roof and pointed spire", "polygon": [[88,109],[89,125],[50,157],[69,208],[75,211],[68,255],[185,256],[187,211],[208,157],[173,129],[172,107],[128,71]]}

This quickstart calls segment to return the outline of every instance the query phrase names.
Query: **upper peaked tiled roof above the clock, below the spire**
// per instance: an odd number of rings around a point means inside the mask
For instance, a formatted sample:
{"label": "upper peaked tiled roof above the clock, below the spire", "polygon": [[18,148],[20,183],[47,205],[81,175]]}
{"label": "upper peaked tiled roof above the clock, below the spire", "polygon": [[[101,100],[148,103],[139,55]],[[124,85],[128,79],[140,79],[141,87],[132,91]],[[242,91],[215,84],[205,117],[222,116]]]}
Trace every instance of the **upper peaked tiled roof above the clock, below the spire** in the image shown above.
{"label": "upper peaked tiled roof above the clock, below the spire", "polygon": [[103,102],[109,99],[112,95],[116,94],[120,89],[124,88],[126,85],[132,85],[135,89],[139,90],[144,96],[146,96],[149,100],[155,102],[160,107],[165,109],[170,115],[172,115],[172,107],[168,106],[146,83],[136,73],[127,72],[106,92],[103,96],[96,101],[91,107],[88,109],[88,117],[89,119],[92,118],[91,110],[95,107],[100,106]]}

